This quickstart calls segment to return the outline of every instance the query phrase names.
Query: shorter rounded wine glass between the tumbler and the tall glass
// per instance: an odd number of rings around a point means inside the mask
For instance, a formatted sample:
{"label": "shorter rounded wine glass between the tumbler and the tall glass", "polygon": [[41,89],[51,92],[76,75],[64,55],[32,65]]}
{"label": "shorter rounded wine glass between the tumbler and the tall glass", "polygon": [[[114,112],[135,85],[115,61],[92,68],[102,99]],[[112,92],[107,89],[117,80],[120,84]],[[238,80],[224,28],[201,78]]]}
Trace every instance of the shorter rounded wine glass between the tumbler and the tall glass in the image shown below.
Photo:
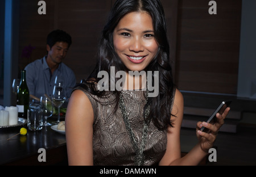
{"label": "shorter rounded wine glass between the tumbler and the tall glass", "polygon": [[51,117],[52,113],[53,113],[53,103],[52,103],[51,98],[49,98],[49,96],[47,96],[47,95],[41,96],[40,106],[42,108],[43,116],[44,116],[43,125],[44,126],[52,125],[47,122],[47,118]]}

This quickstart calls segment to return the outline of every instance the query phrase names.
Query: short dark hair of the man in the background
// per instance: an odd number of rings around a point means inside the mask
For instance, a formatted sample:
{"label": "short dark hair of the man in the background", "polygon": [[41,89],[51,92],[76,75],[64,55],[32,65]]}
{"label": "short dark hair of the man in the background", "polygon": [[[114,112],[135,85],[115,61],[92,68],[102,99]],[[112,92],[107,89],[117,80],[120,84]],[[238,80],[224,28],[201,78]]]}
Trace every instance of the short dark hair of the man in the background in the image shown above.
{"label": "short dark hair of the man in the background", "polygon": [[52,48],[52,46],[57,42],[68,43],[68,47],[70,47],[72,44],[72,39],[67,32],[60,29],[56,29],[48,34],[47,44],[49,45],[50,48]]}

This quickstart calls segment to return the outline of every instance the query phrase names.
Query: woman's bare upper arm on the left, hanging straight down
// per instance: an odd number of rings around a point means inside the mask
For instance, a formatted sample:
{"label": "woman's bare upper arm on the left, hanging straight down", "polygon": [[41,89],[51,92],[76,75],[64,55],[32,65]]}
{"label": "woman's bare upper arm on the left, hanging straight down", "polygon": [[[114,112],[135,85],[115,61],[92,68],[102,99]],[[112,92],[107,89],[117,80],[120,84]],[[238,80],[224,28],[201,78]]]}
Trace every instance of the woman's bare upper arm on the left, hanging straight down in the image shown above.
{"label": "woman's bare upper arm on the left, hanging straight down", "polygon": [[81,90],[73,91],[65,117],[69,165],[93,165],[93,108]]}

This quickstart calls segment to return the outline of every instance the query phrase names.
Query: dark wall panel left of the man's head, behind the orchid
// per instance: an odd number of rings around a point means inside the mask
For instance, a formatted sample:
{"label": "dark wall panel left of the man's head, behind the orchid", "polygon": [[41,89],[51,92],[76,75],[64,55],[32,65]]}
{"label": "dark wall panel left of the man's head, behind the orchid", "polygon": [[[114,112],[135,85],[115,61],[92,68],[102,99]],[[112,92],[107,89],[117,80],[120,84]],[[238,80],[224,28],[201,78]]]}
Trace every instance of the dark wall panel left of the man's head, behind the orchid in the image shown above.
{"label": "dark wall panel left of the man's head, behind the orchid", "polygon": [[[46,0],[47,14],[38,14],[38,1],[23,0],[19,3],[19,69],[46,54],[46,36],[51,31],[53,1]],[[31,58],[22,57],[24,47],[35,47]]]}

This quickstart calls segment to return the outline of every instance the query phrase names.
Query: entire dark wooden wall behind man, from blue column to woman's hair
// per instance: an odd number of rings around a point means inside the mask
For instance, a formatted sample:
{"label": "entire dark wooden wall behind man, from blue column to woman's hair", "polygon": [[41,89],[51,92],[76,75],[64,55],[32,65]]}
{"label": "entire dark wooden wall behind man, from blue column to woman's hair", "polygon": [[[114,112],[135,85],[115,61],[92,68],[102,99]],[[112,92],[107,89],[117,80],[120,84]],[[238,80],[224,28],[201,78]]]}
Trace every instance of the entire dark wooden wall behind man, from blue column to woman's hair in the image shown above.
{"label": "entire dark wooden wall behind man, from blue column to woman's hair", "polygon": [[[72,36],[64,63],[76,74],[77,82],[88,77],[96,61],[98,37],[104,27],[112,1],[48,0],[46,15],[39,15],[37,2],[20,3],[19,69],[46,54],[46,37],[53,29],[63,29]],[[29,60],[22,58],[22,49],[35,47]]]}

